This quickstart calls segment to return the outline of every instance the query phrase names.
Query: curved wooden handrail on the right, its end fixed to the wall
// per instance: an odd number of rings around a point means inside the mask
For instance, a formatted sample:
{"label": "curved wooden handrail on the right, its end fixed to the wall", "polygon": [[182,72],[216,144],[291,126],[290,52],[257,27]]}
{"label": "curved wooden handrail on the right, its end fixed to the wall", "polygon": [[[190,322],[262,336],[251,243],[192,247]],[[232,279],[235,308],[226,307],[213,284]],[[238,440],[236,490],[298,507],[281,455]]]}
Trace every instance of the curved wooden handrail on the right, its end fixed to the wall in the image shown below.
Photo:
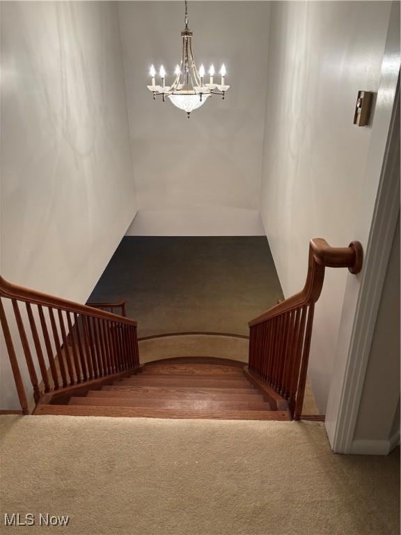
{"label": "curved wooden handrail on the right, its end fixed to the wall", "polygon": [[258,325],[278,314],[315,303],[322,293],[324,267],[347,267],[357,274],[362,269],[363,251],[360,242],[351,242],[349,247],[330,247],[323,238],[313,238],[309,243],[308,274],[304,289],[276,304],[267,312],[249,321],[249,327]]}

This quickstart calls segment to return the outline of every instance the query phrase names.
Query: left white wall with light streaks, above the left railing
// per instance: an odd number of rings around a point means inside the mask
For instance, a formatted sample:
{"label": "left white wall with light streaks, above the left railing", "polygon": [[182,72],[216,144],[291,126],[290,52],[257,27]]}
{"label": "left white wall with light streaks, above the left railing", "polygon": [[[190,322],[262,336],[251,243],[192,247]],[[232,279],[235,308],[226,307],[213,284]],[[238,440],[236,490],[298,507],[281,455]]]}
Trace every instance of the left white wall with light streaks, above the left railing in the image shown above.
{"label": "left white wall with light streaks, above the left railing", "polygon": [[85,302],[135,211],[117,4],[2,2],[1,274]]}

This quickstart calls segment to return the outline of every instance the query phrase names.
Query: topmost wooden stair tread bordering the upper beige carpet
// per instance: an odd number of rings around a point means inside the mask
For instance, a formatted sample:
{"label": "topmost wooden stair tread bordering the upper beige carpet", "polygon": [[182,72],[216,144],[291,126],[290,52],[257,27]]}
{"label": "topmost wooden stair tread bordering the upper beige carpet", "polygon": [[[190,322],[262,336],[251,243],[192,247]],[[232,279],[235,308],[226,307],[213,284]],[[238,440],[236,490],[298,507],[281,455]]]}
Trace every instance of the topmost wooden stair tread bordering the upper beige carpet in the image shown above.
{"label": "topmost wooden stair tread bordering the upper beige carpet", "polygon": [[94,405],[38,405],[34,414],[147,418],[205,418],[233,420],[290,420],[287,411],[271,410],[175,410],[161,408],[102,407]]}

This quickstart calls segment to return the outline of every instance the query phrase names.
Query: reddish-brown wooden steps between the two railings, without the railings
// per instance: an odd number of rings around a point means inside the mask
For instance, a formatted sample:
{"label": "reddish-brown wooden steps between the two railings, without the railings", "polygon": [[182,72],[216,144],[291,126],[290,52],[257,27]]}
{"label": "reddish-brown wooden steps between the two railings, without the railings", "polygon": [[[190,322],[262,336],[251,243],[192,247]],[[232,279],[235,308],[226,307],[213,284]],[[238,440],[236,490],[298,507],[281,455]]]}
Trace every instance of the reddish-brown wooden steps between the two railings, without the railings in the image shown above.
{"label": "reddish-brown wooden steps between the two railings, without the railings", "polygon": [[228,359],[150,362],[140,373],[86,395],[49,401],[39,403],[34,414],[290,420],[287,404],[277,404],[274,391],[256,388],[245,375],[244,364]]}

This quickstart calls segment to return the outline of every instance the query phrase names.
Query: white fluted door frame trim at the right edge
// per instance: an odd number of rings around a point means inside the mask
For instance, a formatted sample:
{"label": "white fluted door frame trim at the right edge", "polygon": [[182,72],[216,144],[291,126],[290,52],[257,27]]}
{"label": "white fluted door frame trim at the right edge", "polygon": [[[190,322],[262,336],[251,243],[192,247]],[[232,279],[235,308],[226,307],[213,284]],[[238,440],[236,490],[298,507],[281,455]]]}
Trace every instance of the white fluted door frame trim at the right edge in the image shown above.
{"label": "white fluted door frame trim at the right edge", "polygon": [[[391,245],[400,212],[400,6],[393,2],[377,93],[361,206],[353,240],[365,250],[363,270],[349,275],[327,404],[335,453],[353,453],[354,432]],[[361,444],[359,444],[358,453]],[[353,451],[354,450],[354,451]],[[377,453],[382,451],[366,451]]]}

